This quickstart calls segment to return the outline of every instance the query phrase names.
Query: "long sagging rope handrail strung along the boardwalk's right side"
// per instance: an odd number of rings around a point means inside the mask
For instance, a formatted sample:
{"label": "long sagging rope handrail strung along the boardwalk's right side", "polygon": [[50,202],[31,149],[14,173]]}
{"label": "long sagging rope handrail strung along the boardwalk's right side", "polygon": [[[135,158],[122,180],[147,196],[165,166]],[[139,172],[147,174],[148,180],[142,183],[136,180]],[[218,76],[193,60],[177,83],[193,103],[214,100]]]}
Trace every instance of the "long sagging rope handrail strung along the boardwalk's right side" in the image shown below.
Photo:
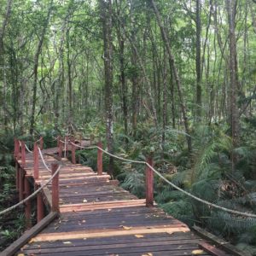
{"label": "long sagging rope handrail strung along the boardwalk's right side", "polygon": [[118,159],[118,160],[125,160],[125,161],[127,161],[127,162],[136,163],[136,164],[144,164],[144,165],[148,166],[148,168],[150,168],[156,175],[158,175],[160,178],[162,178],[166,183],[170,184],[170,185],[172,186],[172,188],[179,190],[180,192],[182,192],[182,193],[185,194],[185,195],[188,195],[189,197],[195,199],[195,201],[200,201],[201,203],[207,205],[208,207],[214,207],[214,208],[217,208],[217,209],[222,210],[222,211],[224,211],[224,212],[230,212],[230,213],[232,213],[232,214],[237,214],[237,215],[241,215],[241,216],[246,216],[246,217],[248,217],[248,218],[256,218],[256,214],[253,214],[253,213],[250,213],[250,212],[239,212],[239,211],[232,210],[232,209],[229,209],[229,208],[226,208],[226,207],[220,207],[220,206],[218,206],[218,205],[216,205],[216,204],[214,204],[214,203],[211,203],[211,202],[209,202],[209,201],[205,201],[205,200],[201,199],[200,197],[197,197],[197,196],[195,196],[195,195],[189,193],[188,191],[186,191],[186,190],[184,190],[184,189],[179,188],[177,185],[175,185],[174,183],[172,183],[171,181],[169,181],[168,179],[166,179],[166,177],[164,177],[162,174],[160,174],[160,172],[156,171],[153,166],[150,166],[150,165],[149,165],[147,162],[145,162],[145,161],[127,160],[127,159],[122,158],[122,157],[119,157],[119,156],[117,156],[117,155],[115,155],[115,154],[111,154],[111,153],[109,153],[107,150],[104,150],[103,148],[100,148],[100,147],[98,147],[98,146],[83,147],[83,146],[79,146],[79,145],[77,145],[77,144],[75,144],[75,143],[71,143],[71,144],[73,144],[74,146],[76,146],[76,147],[78,147],[78,148],[84,148],[84,149],[98,148],[98,149],[102,150],[102,152],[104,152],[104,153],[106,153],[106,154],[112,156],[112,157],[115,158],[115,159]]}

